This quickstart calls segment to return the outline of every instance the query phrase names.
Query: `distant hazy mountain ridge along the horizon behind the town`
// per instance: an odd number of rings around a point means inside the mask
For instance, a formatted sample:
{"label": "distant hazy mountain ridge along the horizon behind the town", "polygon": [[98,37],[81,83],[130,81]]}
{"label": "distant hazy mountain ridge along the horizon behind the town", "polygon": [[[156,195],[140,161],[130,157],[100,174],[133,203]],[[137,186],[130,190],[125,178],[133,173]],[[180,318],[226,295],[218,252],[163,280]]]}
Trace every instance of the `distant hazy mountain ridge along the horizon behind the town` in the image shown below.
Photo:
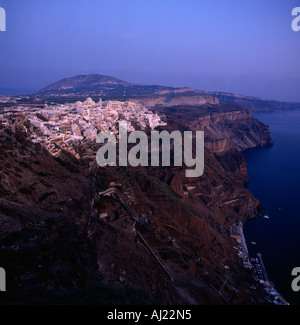
{"label": "distant hazy mountain ridge along the horizon behind the town", "polygon": [[130,99],[148,107],[198,106],[203,104],[233,104],[251,111],[272,111],[300,108],[299,103],[266,100],[233,93],[201,91],[188,87],[141,85],[114,77],[89,74],[65,78],[34,94],[44,99]]}

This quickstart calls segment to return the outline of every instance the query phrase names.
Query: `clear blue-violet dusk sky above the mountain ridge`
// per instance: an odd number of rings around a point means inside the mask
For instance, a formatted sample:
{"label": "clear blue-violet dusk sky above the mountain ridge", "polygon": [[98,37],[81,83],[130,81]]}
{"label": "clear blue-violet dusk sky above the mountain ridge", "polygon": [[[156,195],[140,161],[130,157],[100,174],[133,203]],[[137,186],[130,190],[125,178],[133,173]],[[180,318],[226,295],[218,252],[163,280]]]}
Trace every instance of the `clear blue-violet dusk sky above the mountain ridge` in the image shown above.
{"label": "clear blue-violet dusk sky above the mountain ridge", "polygon": [[300,0],[0,0],[0,93],[79,74],[300,102]]}

